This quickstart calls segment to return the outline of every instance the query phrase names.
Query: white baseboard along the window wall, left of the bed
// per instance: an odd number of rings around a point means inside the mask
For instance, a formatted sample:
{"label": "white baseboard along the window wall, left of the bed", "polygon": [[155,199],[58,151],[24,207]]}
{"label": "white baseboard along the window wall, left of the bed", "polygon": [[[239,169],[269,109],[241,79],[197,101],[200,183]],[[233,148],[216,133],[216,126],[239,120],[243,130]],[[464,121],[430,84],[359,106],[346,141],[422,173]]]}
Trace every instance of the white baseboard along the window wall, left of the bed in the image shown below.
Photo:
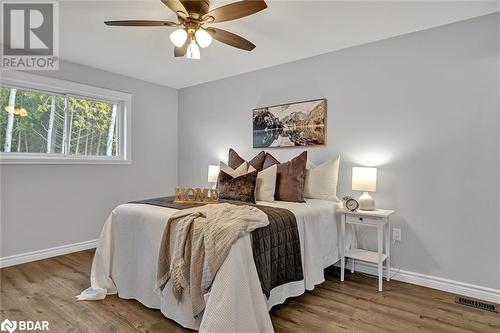
{"label": "white baseboard along the window wall, left of the bed", "polygon": [[93,249],[97,247],[98,239],[93,239],[85,242],[62,245],[57,247],[52,247],[50,249],[38,250],[33,252],[26,252],[21,254],[15,254],[13,256],[0,258],[0,268],[9,267],[19,264],[24,264],[31,261],[57,257],[63,254]]}

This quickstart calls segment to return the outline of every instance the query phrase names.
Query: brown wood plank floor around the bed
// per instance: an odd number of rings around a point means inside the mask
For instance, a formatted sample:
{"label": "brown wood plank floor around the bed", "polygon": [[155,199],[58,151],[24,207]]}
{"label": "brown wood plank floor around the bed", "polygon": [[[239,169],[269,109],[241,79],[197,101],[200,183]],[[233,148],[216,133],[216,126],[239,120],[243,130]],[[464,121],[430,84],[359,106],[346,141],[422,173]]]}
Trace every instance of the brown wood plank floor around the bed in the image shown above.
{"label": "brown wood plank floor around the bed", "polygon": [[[49,320],[50,332],[192,332],[134,300],[77,302],[93,251],[4,268],[1,320]],[[500,315],[454,303],[454,295],[328,269],[313,291],[272,309],[276,332],[500,332]]]}

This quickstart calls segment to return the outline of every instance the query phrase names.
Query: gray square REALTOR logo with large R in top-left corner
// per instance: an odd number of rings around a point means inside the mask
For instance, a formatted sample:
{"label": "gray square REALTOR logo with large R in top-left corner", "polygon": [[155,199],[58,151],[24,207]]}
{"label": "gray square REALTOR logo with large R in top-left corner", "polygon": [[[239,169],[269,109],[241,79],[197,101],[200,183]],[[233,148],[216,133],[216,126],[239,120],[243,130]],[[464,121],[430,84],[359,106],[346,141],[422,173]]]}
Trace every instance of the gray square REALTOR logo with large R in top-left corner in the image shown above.
{"label": "gray square REALTOR logo with large R in top-left corner", "polygon": [[0,67],[58,69],[58,3],[2,1]]}

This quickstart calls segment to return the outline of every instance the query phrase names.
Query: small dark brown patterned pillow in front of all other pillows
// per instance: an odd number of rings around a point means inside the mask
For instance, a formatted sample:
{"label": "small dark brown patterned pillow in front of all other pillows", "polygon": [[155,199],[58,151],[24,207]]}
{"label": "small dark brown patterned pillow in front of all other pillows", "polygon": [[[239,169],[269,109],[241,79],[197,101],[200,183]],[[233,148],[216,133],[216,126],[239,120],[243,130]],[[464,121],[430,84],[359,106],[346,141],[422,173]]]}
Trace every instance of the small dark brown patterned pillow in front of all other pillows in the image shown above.
{"label": "small dark brown patterned pillow in front of all other pillows", "polygon": [[231,177],[224,171],[220,171],[217,179],[219,199],[255,203],[256,182],[257,171],[236,178]]}

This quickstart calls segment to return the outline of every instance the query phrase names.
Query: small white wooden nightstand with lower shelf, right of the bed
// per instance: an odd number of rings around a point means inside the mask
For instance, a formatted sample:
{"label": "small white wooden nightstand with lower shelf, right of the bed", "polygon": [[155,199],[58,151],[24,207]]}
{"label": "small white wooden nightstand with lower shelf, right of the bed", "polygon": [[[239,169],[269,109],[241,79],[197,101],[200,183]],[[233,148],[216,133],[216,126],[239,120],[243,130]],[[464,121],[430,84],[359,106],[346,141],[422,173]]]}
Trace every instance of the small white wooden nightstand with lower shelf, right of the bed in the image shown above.
{"label": "small white wooden nightstand with lower shelf, right of the bed", "polygon": [[[378,290],[382,291],[382,265],[386,262],[386,277],[390,280],[389,268],[391,267],[391,241],[390,230],[391,224],[389,216],[394,213],[393,210],[376,209],[376,210],[356,210],[351,212],[348,209],[337,209],[337,213],[341,215],[341,234],[340,234],[340,281],[344,281],[345,258],[352,258],[351,272],[354,273],[355,260],[362,260],[378,265]],[[377,228],[377,252],[367,251],[362,249],[345,250],[345,225],[354,224],[366,227]],[[385,252],[383,250],[385,229]]]}

